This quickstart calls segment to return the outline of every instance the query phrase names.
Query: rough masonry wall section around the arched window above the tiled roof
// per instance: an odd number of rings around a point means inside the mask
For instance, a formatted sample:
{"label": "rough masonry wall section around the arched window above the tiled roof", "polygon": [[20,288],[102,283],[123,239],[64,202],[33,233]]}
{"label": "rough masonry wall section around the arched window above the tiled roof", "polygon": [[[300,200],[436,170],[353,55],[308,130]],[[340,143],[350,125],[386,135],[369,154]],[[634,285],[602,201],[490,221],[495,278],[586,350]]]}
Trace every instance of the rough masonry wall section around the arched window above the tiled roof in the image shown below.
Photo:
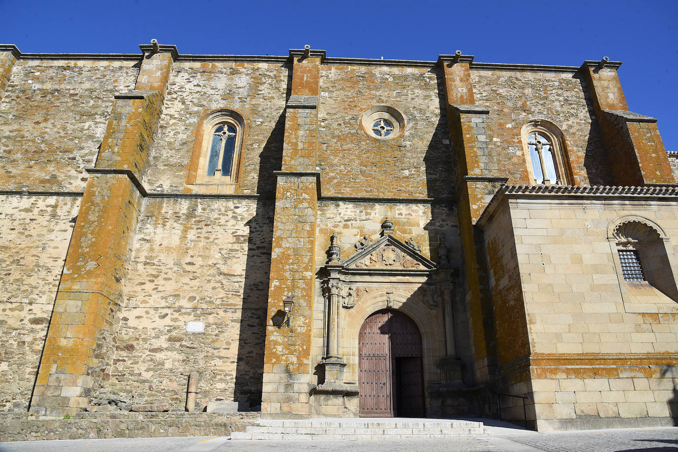
{"label": "rough masonry wall section around the arched window above the tiled roof", "polygon": [[611,176],[593,104],[584,79],[572,72],[472,70],[475,103],[490,108],[494,133],[492,171],[510,183],[530,181],[521,127],[532,119],[551,121],[563,132],[574,184],[607,185]]}

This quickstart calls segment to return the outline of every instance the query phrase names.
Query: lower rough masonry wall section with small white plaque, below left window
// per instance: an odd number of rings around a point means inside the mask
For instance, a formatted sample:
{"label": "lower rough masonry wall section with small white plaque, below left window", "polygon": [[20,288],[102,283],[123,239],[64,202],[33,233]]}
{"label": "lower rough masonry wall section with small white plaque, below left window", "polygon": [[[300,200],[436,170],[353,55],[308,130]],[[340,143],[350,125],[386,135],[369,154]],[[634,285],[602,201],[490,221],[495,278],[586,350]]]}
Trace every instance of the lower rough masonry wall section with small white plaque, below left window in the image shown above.
{"label": "lower rough masonry wall section with small white plaque, below left window", "polygon": [[[260,403],[273,203],[148,198],[127,265],[108,394],[183,411],[188,373],[197,410]],[[188,322],[203,332],[187,332]]]}

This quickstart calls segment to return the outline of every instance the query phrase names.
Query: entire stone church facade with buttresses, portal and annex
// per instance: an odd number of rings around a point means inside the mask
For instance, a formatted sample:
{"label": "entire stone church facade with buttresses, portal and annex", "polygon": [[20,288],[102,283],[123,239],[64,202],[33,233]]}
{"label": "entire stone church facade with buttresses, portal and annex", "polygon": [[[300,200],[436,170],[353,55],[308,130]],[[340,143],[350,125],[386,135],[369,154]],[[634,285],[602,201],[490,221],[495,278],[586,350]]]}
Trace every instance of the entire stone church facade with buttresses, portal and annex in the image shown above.
{"label": "entire stone church facade with buttresses, portal and annex", "polygon": [[620,62],[140,47],[0,46],[0,410],[673,425],[678,160]]}

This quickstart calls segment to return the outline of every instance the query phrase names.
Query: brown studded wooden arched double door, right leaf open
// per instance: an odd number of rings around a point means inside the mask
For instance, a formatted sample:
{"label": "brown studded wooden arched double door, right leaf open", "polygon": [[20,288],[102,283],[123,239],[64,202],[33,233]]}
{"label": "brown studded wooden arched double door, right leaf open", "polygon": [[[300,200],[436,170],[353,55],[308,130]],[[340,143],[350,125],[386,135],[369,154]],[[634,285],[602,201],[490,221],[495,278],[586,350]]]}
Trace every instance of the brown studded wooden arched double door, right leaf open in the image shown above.
{"label": "brown studded wooden arched double door, right leaf open", "polygon": [[396,310],[367,317],[358,338],[359,403],[364,417],[424,417],[422,339]]}

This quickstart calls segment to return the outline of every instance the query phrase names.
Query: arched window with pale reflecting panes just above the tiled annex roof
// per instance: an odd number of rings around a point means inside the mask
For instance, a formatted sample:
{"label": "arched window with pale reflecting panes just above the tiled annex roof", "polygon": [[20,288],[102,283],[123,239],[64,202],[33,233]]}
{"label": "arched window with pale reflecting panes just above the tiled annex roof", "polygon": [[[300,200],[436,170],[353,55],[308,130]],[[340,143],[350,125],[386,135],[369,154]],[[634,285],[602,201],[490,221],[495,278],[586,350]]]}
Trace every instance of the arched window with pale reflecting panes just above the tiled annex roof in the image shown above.
{"label": "arched window with pale reflecting panes just above the tiled annex roof", "polygon": [[530,184],[567,185],[565,140],[558,127],[549,121],[529,121],[521,135]]}

